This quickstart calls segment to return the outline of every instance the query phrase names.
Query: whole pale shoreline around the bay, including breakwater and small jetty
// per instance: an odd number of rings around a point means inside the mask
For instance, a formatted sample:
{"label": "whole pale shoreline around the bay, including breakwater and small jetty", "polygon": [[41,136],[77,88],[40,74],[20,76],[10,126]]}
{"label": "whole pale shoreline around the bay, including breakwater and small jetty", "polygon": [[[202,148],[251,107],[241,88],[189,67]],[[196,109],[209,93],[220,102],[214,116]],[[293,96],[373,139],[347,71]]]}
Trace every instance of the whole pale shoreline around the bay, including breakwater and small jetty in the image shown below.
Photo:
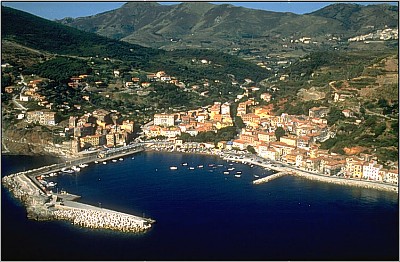
{"label": "whole pale shoreline around the bay, including breakwater and small jetty", "polygon": [[[94,162],[95,159],[99,161],[107,161],[110,159],[118,158],[134,154],[141,151],[148,152],[162,152],[162,153],[185,153],[185,154],[198,154],[206,156],[215,156],[222,158],[226,161],[241,162],[243,164],[257,165],[269,170],[274,170],[279,173],[264,177],[264,180],[254,180],[253,184],[261,184],[268,182],[272,179],[279,178],[283,175],[293,175],[309,180],[320,181],[325,183],[332,183],[345,186],[356,186],[362,188],[369,188],[375,190],[382,190],[388,192],[398,193],[398,187],[390,184],[383,184],[371,181],[345,179],[339,177],[330,177],[319,174],[302,171],[297,168],[287,166],[284,163],[269,161],[258,158],[254,155],[249,157],[249,154],[237,155],[234,152],[221,152],[216,150],[200,150],[195,152],[180,152],[176,150],[155,150],[148,147],[133,148],[133,151],[122,149],[114,151],[115,154],[106,156],[104,158],[95,158],[89,156],[87,158],[78,158],[68,160],[63,164],[53,164],[49,166],[42,166],[40,168],[18,172],[2,178],[2,184],[10,191],[10,193],[20,200],[27,210],[28,218],[35,220],[67,220],[72,224],[93,228],[93,229],[111,229],[121,232],[143,233],[151,228],[151,224],[155,221],[148,218],[137,217],[130,214],[115,212],[108,209],[97,208],[94,206],[86,205],[74,201],[79,196],[72,196],[66,192],[62,194],[55,194],[49,192],[41,185],[36,177],[42,174],[59,171],[62,167],[72,166],[77,163]],[[67,165],[69,162],[69,165]],[[273,177],[272,177],[273,176]],[[258,182],[255,182],[258,181]]]}

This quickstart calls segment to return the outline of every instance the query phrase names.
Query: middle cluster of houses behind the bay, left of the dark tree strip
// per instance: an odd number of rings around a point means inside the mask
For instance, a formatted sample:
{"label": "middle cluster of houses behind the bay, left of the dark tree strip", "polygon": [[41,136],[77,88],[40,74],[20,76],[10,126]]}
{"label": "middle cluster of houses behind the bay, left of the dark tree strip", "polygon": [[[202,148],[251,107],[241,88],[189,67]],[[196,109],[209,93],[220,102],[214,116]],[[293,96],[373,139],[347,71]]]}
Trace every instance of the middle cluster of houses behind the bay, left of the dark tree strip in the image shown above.
{"label": "middle cluster of houses behind the bay, left of the dark tree strip", "polygon": [[147,138],[165,136],[178,137],[182,133],[196,136],[200,132],[217,131],[233,126],[230,104],[215,102],[212,106],[174,114],[155,114],[152,125],[143,127]]}

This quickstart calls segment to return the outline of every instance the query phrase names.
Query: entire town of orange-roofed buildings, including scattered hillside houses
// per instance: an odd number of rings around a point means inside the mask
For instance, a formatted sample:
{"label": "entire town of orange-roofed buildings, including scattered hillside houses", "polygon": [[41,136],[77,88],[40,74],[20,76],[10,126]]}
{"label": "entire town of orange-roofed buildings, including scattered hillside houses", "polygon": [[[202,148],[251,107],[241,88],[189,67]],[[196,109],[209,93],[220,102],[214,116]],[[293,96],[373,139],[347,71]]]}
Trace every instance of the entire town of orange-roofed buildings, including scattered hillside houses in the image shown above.
{"label": "entire town of orange-roofed buildings, including scattered hillside houses", "polygon": [[[117,72],[114,71],[114,74]],[[148,77],[152,81],[171,81],[171,77],[163,71]],[[77,85],[84,85],[84,78],[85,76],[71,78],[70,87],[77,88]],[[137,83],[126,82],[127,87],[150,85],[148,82],[139,83],[137,78],[132,80]],[[173,82],[180,83],[176,78]],[[79,105],[68,103],[53,108],[53,104],[48,102],[45,96],[38,94],[40,83],[41,80],[31,80],[22,89],[19,102],[16,101],[16,104],[33,100],[45,109],[23,111],[25,114],[17,115],[18,120],[44,126],[57,126],[57,113],[52,110],[62,111],[70,107],[80,109]],[[273,91],[261,93],[259,99],[265,103],[259,105],[254,97],[249,97],[249,94],[258,89],[256,87],[243,89],[244,93],[238,95],[232,102],[215,101],[212,105],[195,110],[154,114],[152,121],[142,125],[141,130],[137,125],[135,127],[133,119],[121,116],[117,110],[97,109],[81,116],[71,115],[68,126],[57,134],[64,137],[64,141],[49,148],[64,157],[81,157],[91,152],[126,146],[134,141],[147,141],[147,143],[167,141],[174,145],[174,150],[179,150],[185,148],[185,142],[190,143],[199,134],[217,133],[231,127],[236,130],[231,139],[219,141],[205,139],[198,141],[201,142],[198,144],[211,148],[214,152],[226,150],[251,152],[264,159],[280,161],[326,176],[398,184],[398,170],[384,168],[372,154],[346,156],[319,148],[321,142],[336,135],[327,125],[329,108],[312,107],[308,115],[287,113],[275,115],[273,105],[269,103],[274,99]],[[14,90],[10,87],[6,88],[6,92],[13,93]],[[337,93],[334,99],[338,99]],[[89,102],[90,98],[85,96],[84,100]],[[234,103],[237,107],[234,107]],[[347,118],[352,117],[350,110],[343,110],[342,114]]]}

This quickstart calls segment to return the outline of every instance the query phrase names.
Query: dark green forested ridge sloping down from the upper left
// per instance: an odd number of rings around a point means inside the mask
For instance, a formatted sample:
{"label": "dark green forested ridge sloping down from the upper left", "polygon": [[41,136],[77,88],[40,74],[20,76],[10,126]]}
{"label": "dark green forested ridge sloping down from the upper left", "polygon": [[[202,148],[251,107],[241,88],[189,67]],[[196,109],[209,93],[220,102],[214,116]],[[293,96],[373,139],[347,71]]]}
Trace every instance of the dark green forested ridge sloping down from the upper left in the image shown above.
{"label": "dark green forested ridge sloping down from the upper left", "polygon": [[[164,70],[181,79],[226,79],[228,74],[237,80],[250,78],[258,81],[268,72],[237,57],[208,50],[181,50],[166,52],[129,44],[94,33],[83,32],[26,12],[2,6],[2,41],[59,55],[80,57],[108,57],[148,70]],[[191,61],[210,59],[212,66],[198,67]]]}

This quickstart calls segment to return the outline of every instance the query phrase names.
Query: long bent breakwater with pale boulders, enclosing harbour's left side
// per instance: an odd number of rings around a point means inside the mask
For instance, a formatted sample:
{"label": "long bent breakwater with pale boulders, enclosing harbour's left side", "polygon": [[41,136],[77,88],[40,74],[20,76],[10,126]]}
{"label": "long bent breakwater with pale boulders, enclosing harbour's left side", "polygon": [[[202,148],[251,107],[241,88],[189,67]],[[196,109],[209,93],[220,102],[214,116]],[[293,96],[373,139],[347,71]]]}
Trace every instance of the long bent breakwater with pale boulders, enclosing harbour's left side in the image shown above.
{"label": "long bent breakwater with pale boulders, enclosing harbour's left side", "polygon": [[30,219],[66,220],[86,228],[143,233],[151,228],[155,220],[76,202],[75,200],[80,196],[65,191],[57,194],[47,191],[36,179],[37,176],[59,171],[63,167],[93,162],[98,158],[106,161],[140,151],[143,151],[141,146],[124,147],[108,154],[96,155],[96,158],[90,156],[70,161],[69,164],[53,164],[11,174],[3,177],[2,183],[15,198],[24,204]]}

